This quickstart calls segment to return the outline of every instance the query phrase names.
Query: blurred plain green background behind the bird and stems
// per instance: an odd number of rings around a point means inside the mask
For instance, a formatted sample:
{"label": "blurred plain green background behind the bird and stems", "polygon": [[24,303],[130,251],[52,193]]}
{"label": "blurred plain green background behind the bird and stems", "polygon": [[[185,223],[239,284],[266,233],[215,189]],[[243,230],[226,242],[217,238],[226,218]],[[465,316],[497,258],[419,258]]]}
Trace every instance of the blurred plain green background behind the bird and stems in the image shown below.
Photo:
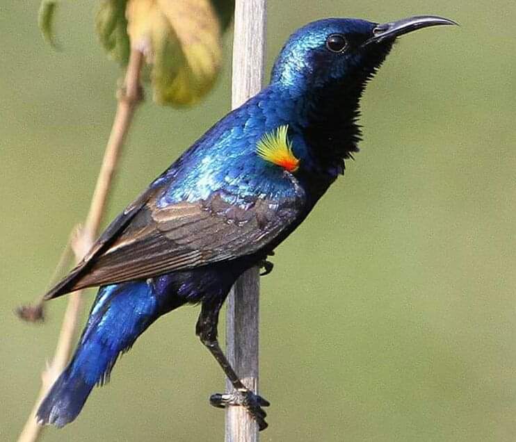
{"label": "blurred plain green background behind the bird and stems", "polygon": [[[268,69],[292,31],[321,17],[429,13],[462,26],[396,46],[364,97],[362,152],[262,279],[260,385],[272,406],[261,440],[514,441],[516,3],[269,3]],[[29,414],[66,300],[49,304],[45,325],[12,311],[45,290],[86,215],[120,76],[93,31],[97,1],[63,3],[61,53],[40,38],[38,6],[0,6],[1,441]],[[202,106],[140,108],[108,219],[227,112],[230,47],[226,35]],[[151,327],[76,422],[44,440],[222,440],[207,398],[224,381],[195,337],[197,312]]]}

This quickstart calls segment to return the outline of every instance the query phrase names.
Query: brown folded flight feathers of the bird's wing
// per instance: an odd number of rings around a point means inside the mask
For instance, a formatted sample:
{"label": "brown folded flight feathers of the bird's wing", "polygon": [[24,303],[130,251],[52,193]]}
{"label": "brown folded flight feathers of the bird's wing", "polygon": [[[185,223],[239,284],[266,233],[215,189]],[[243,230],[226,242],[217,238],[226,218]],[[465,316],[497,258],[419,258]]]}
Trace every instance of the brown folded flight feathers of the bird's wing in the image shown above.
{"label": "brown folded flight feathers of the bird's wing", "polygon": [[291,191],[282,197],[245,197],[242,204],[227,202],[235,195],[219,190],[208,199],[161,207],[156,189],[144,193],[45,299],[258,252],[303,213],[305,193],[289,179]]}

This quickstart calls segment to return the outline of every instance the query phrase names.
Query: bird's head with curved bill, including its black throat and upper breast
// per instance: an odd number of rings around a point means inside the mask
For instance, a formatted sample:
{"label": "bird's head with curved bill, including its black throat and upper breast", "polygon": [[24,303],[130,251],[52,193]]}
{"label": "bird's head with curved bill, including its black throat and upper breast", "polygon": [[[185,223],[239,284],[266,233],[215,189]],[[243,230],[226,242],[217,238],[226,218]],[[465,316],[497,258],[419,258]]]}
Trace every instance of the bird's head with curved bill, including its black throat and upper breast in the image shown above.
{"label": "bird's head with curved bill, including its black throat and upper breast", "polygon": [[360,97],[396,38],[444,24],[455,22],[434,16],[383,24],[332,18],[291,35],[273,67],[271,86],[287,92],[282,96],[291,103],[289,117],[323,170],[343,173],[344,160],[358,151]]}

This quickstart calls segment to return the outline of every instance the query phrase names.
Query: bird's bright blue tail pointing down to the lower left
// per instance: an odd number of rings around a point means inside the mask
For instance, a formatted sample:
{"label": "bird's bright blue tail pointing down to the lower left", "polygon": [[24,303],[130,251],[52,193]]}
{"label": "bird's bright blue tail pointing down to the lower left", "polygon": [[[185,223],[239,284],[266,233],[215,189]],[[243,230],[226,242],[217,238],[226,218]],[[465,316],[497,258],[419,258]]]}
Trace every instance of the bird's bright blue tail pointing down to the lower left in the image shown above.
{"label": "bird's bright blue tail pointing down to the lower left", "polygon": [[38,421],[57,427],[72,422],[93,386],[109,380],[118,356],[158,317],[152,284],[135,281],[100,288],[74,357],[40,405]]}

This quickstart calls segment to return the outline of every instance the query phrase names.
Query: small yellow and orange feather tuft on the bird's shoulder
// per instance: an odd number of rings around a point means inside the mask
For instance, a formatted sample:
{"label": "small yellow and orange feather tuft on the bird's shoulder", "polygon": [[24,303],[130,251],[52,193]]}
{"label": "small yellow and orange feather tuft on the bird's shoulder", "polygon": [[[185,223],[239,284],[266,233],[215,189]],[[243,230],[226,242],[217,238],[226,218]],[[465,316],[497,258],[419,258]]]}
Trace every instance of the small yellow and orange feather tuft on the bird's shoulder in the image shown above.
{"label": "small yellow and orange feather tuft on the bird's shoulder", "polygon": [[296,172],[299,160],[292,152],[292,143],[287,139],[289,126],[284,124],[275,131],[266,133],[257,142],[256,152],[261,158],[283,167],[289,172]]}

